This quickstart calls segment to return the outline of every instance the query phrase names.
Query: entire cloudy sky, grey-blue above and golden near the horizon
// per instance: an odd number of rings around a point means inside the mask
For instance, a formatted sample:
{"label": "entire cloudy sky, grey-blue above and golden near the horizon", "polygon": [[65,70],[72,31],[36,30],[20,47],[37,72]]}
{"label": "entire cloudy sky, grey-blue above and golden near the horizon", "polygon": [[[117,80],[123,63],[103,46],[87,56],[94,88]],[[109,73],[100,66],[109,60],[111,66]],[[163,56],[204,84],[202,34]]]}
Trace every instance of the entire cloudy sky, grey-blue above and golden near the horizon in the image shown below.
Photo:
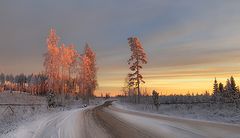
{"label": "entire cloudy sky, grey-blue above and golden near the horizon", "polygon": [[121,94],[129,73],[127,38],[148,56],[144,89],[162,94],[211,92],[214,78],[240,84],[240,1],[1,0],[0,72],[43,71],[46,37],[97,54],[97,93]]}

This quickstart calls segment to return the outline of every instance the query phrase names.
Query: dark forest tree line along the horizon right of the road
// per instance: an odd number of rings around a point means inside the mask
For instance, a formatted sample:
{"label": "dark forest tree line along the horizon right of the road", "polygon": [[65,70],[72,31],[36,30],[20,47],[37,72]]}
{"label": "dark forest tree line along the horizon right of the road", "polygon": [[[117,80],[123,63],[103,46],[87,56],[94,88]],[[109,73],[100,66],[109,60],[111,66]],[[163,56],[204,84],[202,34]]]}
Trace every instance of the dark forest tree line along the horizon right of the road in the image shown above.
{"label": "dark forest tree line along the horizon right of the road", "polygon": [[[126,79],[127,81],[127,79]],[[153,90],[152,94],[149,94],[147,90],[141,89],[140,94],[141,104],[153,104],[159,106],[161,104],[233,104],[237,108],[240,107],[240,91],[236,85],[233,76],[227,79],[226,84],[218,83],[217,79],[213,83],[213,91],[210,94],[206,91],[203,94],[172,94],[162,95],[159,92]],[[133,89],[129,89],[127,83],[123,87],[123,95],[119,95],[121,101],[137,103],[137,92]]]}

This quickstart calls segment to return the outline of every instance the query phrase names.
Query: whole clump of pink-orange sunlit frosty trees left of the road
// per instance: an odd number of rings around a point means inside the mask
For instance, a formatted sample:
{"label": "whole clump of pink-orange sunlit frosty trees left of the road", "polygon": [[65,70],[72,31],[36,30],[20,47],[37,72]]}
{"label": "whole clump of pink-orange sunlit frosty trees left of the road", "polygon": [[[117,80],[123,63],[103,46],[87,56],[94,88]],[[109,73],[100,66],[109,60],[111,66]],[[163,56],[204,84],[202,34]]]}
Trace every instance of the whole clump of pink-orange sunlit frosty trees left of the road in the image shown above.
{"label": "whole clump of pink-orange sunlit frosty trees left of the road", "polygon": [[97,84],[95,53],[87,47],[81,56],[73,44],[59,46],[58,43],[59,37],[56,31],[51,29],[47,38],[48,52],[44,60],[49,90],[81,93],[88,91],[92,95]]}

